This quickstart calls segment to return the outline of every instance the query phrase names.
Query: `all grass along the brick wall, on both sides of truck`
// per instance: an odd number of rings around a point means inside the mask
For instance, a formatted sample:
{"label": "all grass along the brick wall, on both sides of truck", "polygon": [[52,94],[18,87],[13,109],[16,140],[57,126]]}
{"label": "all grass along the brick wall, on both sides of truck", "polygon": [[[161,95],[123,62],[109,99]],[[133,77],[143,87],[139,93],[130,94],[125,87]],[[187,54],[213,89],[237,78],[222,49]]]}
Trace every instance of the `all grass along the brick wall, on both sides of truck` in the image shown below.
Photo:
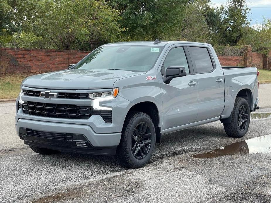
{"label": "all grass along the brick wall, on both sides of truck", "polygon": [[[271,70],[259,70],[260,83],[271,82]],[[0,99],[17,98],[20,92],[20,85],[28,76],[38,73],[0,73]]]}

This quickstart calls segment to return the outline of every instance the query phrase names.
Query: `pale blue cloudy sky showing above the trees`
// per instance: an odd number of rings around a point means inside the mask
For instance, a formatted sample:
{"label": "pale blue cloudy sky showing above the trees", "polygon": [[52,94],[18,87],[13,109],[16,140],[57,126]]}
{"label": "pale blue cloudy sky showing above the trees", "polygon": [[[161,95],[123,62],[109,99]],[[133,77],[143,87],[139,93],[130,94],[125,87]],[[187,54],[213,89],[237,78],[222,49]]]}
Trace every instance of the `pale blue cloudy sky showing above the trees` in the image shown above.
{"label": "pale blue cloudy sky showing above the trees", "polygon": [[[225,4],[226,0],[211,0],[213,6]],[[248,20],[251,20],[250,26],[257,27],[257,24],[263,23],[263,16],[271,18],[271,0],[246,0],[250,8]]]}

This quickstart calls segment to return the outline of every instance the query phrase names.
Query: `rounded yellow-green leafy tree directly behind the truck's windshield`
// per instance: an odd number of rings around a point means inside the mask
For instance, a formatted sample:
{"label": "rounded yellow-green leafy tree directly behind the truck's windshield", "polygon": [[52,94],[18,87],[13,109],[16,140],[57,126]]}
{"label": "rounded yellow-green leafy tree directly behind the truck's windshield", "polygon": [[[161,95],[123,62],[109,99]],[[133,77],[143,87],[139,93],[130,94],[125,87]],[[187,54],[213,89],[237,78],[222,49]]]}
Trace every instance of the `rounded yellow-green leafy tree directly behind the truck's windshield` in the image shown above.
{"label": "rounded yellow-green leafy tree directly behind the truck's windshield", "polygon": [[58,49],[93,49],[100,43],[117,41],[122,29],[119,12],[104,1],[57,0],[35,23],[43,38]]}

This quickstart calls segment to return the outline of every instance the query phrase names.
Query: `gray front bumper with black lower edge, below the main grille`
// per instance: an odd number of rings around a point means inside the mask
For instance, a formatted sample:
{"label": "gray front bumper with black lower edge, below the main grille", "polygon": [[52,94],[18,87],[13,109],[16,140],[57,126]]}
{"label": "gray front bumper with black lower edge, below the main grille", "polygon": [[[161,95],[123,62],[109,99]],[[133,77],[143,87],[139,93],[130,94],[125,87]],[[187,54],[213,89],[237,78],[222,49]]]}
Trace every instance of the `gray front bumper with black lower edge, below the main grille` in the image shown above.
{"label": "gray front bumper with black lower edge, below the main grille", "polygon": [[[31,129],[42,132],[51,133],[69,133],[76,135],[83,135],[88,143],[88,147],[78,147],[75,145],[76,140],[60,140],[57,138],[48,138],[33,136],[27,133],[25,139],[22,139],[22,129]],[[41,148],[56,149],[60,151],[71,151],[80,152],[88,154],[103,154],[103,155],[113,155],[115,154],[115,149],[120,143],[121,133],[95,133],[92,128],[88,125],[78,125],[78,124],[67,124],[67,123],[55,123],[55,122],[44,122],[44,121],[34,121],[27,119],[19,119],[16,124],[17,134],[25,144],[33,145]]]}

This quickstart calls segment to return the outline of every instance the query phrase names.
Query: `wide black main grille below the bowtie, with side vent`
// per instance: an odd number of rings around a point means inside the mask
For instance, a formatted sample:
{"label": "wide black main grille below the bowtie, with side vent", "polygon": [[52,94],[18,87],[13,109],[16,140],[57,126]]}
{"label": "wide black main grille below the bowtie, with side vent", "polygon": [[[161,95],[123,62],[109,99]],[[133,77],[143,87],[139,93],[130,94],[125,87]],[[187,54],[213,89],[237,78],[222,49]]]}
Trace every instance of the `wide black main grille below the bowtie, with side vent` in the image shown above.
{"label": "wide black main grille below the bowtie, with side vent", "polygon": [[112,123],[112,111],[96,110],[92,106],[24,102],[23,113],[51,118],[88,119],[100,115],[105,123]]}

